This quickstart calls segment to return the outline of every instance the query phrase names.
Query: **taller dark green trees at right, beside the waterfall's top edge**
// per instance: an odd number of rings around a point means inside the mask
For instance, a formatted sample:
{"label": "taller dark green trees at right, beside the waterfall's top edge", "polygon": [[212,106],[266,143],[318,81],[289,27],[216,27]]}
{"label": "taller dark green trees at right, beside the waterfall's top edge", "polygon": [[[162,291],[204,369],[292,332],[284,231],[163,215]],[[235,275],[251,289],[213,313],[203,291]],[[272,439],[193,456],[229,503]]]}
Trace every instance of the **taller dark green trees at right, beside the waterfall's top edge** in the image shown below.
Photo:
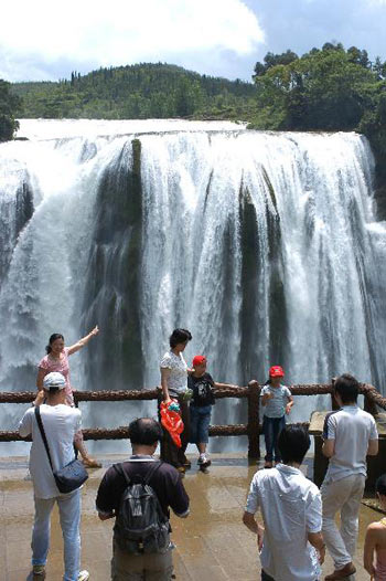
{"label": "taller dark green trees at right, beside the waterfall's top edge", "polygon": [[256,129],[358,131],[376,157],[376,198],[386,219],[386,62],[325,43],[298,56],[268,53],[255,66]]}

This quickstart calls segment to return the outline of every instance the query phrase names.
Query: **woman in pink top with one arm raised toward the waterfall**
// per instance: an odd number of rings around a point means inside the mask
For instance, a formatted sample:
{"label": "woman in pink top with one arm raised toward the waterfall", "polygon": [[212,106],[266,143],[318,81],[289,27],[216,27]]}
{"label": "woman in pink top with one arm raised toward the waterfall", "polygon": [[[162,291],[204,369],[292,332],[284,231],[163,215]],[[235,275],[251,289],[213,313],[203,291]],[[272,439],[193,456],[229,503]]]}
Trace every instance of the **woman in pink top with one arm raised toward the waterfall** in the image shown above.
{"label": "woman in pink top with one arm raised toward the waterfall", "polygon": [[[79,349],[85,347],[88,341],[98,335],[99,329],[98,326],[94,327],[94,329],[79,339],[76,344],[72,345],[71,347],[64,346],[64,337],[60,332],[54,332],[51,335],[49,345],[46,346],[45,350],[47,355],[43,357],[43,359],[39,363],[37,369],[37,378],[36,378],[36,387],[37,390],[43,394],[43,379],[47,373],[51,373],[52,371],[58,371],[64,376],[66,380],[66,387],[65,387],[65,394],[66,394],[66,404],[74,406],[74,397],[73,397],[73,390],[69,382],[69,366],[68,366],[68,357],[73,353],[76,353]],[[96,462],[95,459],[90,458],[87,452],[87,448],[85,446],[82,430],[76,433],[75,436],[75,447],[79,451],[83,463],[88,468],[99,468],[101,465]]]}

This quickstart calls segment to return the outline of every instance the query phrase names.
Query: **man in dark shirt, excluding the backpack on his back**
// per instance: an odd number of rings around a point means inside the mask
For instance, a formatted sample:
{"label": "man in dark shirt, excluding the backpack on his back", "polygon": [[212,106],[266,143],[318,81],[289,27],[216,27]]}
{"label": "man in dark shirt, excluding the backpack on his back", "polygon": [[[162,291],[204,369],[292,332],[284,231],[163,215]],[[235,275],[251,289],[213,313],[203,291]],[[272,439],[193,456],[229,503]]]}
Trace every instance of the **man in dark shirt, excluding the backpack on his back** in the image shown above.
{"label": "man in dark shirt, excluding the backpack on his back", "polygon": [[[157,462],[153,454],[159,441],[162,439],[162,429],[159,422],[151,418],[140,418],[129,425],[132,455],[121,464],[129,479],[144,478]],[[169,509],[180,517],[189,516],[189,496],[183,487],[179,472],[167,463],[161,463],[159,468],[150,475],[149,485],[154,490],[162,511],[169,519]],[[127,487],[124,474],[111,466],[105,474],[98,489],[96,508],[100,520],[115,518],[119,515],[121,496]],[[119,539],[112,540],[112,581],[170,581],[173,573],[172,548],[165,552],[125,552],[119,546]]]}

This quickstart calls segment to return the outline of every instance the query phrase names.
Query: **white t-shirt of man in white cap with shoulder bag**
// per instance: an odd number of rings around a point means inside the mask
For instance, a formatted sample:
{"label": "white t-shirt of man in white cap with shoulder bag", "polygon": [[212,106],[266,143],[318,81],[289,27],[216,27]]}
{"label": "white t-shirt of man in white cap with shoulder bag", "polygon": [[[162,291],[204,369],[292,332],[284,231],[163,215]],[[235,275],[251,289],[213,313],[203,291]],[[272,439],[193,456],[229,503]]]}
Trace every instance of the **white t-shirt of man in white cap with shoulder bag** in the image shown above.
{"label": "white t-shirt of man in white cap with shoulder bag", "polygon": [[[40,413],[55,471],[74,459],[74,436],[81,429],[81,410],[60,403],[40,406]],[[19,424],[23,437],[32,434],[30,473],[36,498],[54,498],[61,493],[52,474],[47,453],[35,418],[35,409],[29,408]]]}

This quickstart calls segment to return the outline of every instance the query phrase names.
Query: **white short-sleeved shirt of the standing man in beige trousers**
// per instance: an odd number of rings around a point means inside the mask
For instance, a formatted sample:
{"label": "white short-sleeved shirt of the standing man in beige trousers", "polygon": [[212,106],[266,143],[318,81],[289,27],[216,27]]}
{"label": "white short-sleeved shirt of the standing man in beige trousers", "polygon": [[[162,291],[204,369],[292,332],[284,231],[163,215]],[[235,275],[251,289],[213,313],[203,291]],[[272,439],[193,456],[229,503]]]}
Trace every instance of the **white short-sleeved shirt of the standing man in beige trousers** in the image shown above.
{"label": "white short-sleeved shirt of the standing man in beige trousers", "polygon": [[324,440],[334,440],[334,455],[330,458],[325,484],[354,474],[366,476],[368,442],[378,439],[376,423],[369,413],[357,405],[344,405],[326,415]]}

